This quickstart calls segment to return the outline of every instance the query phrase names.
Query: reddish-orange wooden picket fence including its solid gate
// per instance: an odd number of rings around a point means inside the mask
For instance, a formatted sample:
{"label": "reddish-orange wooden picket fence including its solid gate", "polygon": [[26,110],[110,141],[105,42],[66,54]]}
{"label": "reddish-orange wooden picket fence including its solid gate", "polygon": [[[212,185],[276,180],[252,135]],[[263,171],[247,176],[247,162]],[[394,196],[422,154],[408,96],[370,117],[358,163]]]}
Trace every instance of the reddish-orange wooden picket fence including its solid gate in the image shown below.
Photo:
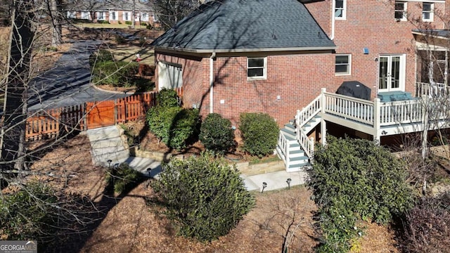
{"label": "reddish-orange wooden picket fence including its solid gate", "polygon": [[[183,89],[176,90],[179,97]],[[27,118],[25,139],[38,141],[56,138],[60,133],[95,129],[101,126],[145,119],[146,112],[156,104],[158,92],[140,93],[99,102],[68,106],[56,110],[32,113]]]}

